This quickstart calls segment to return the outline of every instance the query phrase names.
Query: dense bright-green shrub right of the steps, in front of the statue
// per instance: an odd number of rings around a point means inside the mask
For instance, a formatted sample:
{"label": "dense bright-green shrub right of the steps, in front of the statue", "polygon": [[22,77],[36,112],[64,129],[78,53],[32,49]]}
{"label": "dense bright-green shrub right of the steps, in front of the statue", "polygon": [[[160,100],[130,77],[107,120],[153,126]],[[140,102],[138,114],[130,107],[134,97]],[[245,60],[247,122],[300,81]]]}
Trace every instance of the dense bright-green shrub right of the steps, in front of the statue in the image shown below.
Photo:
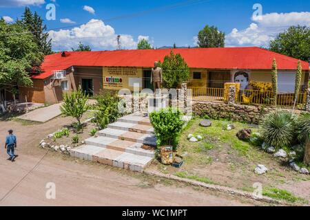
{"label": "dense bright-green shrub right of the steps, in front of the statue", "polygon": [[178,109],[161,109],[149,114],[157,137],[157,146],[172,145],[174,150],[178,145],[180,131],[185,122],[181,120],[182,113]]}

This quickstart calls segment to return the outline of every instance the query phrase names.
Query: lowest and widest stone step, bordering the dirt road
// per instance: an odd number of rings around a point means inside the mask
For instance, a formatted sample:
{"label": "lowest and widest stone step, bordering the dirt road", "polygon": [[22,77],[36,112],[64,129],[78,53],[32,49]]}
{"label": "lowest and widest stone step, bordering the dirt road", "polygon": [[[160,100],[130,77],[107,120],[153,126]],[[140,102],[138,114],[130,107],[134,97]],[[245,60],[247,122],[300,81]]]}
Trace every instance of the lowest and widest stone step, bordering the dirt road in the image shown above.
{"label": "lowest and widest stone step, bordering the dirt road", "polygon": [[152,162],[153,159],[153,157],[134,155],[132,153],[115,151],[113,149],[92,146],[89,144],[70,150],[70,155],[72,155],[72,157],[79,157],[81,159],[138,172],[142,172],[143,168]]}

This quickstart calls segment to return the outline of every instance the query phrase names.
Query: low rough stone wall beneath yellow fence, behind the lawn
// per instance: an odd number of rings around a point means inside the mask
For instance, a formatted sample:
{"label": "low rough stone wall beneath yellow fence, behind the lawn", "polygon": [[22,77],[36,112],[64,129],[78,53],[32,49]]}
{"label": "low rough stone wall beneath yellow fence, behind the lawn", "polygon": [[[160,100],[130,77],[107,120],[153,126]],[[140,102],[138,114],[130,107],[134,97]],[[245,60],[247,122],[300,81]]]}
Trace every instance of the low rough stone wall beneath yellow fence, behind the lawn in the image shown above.
{"label": "low rough stone wall beneath yellow fence, behind the lawn", "polygon": [[226,104],[225,102],[194,102],[193,113],[207,115],[211,119],[227,119],[258,124],[265,114],[274,111],[272,107]]}

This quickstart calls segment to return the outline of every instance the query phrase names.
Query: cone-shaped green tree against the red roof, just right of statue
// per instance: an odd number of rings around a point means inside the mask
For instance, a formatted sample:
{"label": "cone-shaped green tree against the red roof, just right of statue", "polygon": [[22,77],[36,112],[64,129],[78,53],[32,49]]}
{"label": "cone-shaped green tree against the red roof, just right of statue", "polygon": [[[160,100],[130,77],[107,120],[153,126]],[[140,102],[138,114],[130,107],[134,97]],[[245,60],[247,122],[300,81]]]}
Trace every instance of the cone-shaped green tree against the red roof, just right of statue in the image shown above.
{"label": "cone-shaped green tree against the red roof, just right of statue", "polygon": [[167,89],[176,89],[180,83],[187,81],[189,67],[180,54],[170,52],[160,65],[163,68],[163,82]]}

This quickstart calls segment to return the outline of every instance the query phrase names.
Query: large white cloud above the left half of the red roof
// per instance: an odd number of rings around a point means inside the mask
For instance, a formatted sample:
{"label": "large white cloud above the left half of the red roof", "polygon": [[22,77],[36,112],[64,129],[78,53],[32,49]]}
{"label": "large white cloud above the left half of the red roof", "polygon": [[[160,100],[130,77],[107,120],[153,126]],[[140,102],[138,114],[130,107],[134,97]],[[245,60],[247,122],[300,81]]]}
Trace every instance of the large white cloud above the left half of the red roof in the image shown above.
{"label": "large white cloud above the left half of the red roof", "polygon": [[[71,50],[72,47],[77,47],[80,41],[90,45],[92,50],[115,50],[117,47],[118,34],[114,28],[96,19],[71,30],[51,30],[49,34],[53,50],[56,51]],[[138,38],[149,39],[148,36],[142,35]],[[121,44],[123,49],[136,49],[137,41],[130,34],[121,34]]]}

